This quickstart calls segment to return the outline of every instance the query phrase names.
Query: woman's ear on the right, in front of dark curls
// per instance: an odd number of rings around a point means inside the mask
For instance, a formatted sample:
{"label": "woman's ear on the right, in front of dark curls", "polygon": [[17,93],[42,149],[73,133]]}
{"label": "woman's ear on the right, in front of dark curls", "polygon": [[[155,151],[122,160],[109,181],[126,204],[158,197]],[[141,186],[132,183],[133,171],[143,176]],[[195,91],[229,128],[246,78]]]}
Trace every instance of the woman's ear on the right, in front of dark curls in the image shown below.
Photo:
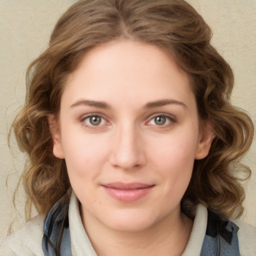
{"label": "woman's ear on the right, in front of dark curls", "polygon": [[203,120],[195,152],[195,159],[202,159],[207,156],[213,138],[212,123],[209,120]]}

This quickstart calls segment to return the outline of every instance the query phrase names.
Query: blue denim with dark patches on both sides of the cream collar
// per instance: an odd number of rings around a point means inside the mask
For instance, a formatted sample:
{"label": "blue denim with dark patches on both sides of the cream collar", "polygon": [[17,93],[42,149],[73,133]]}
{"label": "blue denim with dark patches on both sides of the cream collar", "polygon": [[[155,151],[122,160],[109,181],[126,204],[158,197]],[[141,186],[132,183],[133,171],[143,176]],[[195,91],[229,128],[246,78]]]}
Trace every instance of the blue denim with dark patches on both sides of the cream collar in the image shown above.
{"label": "blue denim with dark patches on both sides of the cream collar", "polygon": [[[46,256],[70,256],[71,243],[68,224],[69,196],[60,198],[48,212],[44,221],[42,250]],[[239,256],[238,226],[222,219],[209,209],[206,233],[200,256]]]}

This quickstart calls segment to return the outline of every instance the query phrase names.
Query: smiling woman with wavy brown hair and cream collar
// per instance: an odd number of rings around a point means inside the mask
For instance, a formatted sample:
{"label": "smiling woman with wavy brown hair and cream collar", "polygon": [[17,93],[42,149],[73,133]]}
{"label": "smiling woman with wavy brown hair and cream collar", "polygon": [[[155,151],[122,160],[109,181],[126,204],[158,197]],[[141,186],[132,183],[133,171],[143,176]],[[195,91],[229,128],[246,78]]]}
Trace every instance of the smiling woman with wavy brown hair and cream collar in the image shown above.
{"label": "smiling woman with wavy brown hair and cream collar", "polygon": [[[253,125],[182,0],[81,0],[28,68],[13,129],[39,215],[3,255],[254,255],[229,166]],[[246,168],[249,173],[249,168]]]}

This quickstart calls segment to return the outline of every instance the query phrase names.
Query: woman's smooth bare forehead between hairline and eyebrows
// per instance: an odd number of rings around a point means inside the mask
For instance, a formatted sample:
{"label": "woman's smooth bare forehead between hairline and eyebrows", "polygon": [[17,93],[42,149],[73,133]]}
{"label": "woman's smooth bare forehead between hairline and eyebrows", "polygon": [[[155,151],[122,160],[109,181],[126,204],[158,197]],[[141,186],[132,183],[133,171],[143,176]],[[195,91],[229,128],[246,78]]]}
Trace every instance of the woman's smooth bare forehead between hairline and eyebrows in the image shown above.
{"label": "woman's smooth bare forehead between hairline and eyebrows", "polygon": [[84,54],[68,77],[62,98],[143,104],[166,97],[186,101],[191,95],[187,74],[170,54],[155,45],[119,40]]}

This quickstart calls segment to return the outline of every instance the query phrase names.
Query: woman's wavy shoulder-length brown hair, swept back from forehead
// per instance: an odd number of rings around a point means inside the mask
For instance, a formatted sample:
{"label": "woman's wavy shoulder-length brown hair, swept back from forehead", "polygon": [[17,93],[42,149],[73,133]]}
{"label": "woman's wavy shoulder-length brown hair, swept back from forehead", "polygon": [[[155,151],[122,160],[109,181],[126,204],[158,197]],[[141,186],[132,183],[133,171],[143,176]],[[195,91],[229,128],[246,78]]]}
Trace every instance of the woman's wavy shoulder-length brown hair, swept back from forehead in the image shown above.
{"label": "woman's wavy shoulder-length brown hair, swept back from forehead", "polygon": [[239,163],[249,149],[253,124],[230,103],[233,74],[210,44],[211,30],[183,0],[80,0],[59,18],[48,48],[27,69],[26,97],[12,129],[28,158],[21,176],[27,194],[26,213],[33,204],[45,214],[70,187],[64,159],[52,153],[48,117],[58,120],[65,81],[83,53],[118,39],[153,44],[169,52],[188,74],[200,120],[212,123],[214,139],[208,155],[195,160],[182,198],[198,202],[226,217],[243,212],[244,189]]}

